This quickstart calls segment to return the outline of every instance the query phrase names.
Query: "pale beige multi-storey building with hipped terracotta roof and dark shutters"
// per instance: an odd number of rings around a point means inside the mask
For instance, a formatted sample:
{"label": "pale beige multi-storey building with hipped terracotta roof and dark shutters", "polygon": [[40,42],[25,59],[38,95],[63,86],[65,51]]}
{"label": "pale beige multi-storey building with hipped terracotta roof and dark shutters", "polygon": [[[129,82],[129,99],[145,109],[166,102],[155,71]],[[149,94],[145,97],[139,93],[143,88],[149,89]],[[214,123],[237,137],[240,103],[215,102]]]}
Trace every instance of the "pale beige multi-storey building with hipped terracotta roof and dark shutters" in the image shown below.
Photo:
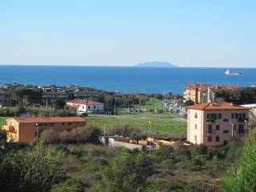
{"label": "pale beige multi-storey building with hipped terracotta roof and dark shutters", "polygon": [[246,138],[247,107],[229,102],[206,102],[187,109],[187,140],[191,143],[221,146],[232,136]]}

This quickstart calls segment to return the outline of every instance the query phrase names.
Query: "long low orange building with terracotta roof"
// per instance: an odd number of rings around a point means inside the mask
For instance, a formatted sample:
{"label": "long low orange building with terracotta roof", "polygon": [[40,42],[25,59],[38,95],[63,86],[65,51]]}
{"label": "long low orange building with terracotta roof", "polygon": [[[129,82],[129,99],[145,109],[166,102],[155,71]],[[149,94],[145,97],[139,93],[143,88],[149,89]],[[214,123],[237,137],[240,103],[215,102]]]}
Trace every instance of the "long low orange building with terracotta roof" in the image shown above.
{"label": "long low orange building with terracotta roof", "polygon": [[78,117],[52,118],[10,118],[2,128],[7,132],[7,141],[29,142],[37,136],[37,132],[54,128],[71,130],[74,127],[84,126],[86,120]]}

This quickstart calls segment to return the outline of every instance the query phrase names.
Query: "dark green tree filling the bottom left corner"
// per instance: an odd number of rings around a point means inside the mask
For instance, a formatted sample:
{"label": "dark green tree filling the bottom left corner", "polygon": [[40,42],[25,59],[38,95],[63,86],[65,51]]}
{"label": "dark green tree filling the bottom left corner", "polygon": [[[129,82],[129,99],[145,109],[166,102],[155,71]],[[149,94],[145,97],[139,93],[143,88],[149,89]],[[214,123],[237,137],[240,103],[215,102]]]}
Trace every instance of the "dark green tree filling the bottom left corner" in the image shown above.
{"label": "dark green tree filling the bottom left corner", "polygon": [[53,154],[41,146],[38,150],[5,154],[0,161],[1,191],[50,191],[54,183],[66,178],[62,158],[62,152]]}

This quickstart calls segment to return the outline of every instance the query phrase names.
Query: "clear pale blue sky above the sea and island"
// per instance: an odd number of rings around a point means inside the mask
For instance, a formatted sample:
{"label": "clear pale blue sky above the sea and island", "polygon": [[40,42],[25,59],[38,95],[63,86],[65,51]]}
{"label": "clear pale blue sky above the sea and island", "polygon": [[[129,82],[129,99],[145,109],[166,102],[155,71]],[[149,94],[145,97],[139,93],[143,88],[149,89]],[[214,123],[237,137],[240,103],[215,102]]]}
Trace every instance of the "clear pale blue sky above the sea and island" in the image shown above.
{"label": "clear pale blue sky above the sea and island", "polygon": [[256,1],[8,0],[0,63],[256,66]]}

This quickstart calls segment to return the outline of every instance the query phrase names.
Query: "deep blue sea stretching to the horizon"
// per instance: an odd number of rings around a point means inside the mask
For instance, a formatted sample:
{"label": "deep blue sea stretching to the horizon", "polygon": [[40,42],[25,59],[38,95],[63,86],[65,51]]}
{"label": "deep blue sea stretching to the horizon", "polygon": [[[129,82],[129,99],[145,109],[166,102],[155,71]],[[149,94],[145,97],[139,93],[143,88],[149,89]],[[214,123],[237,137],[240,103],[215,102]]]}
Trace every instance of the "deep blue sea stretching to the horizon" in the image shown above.
{"label": "deep blue sea stretching to the horizon", "polygon": [[254,86],[256,68],[232,68],[241,76],[225,74],[226,68],[145,68],[122,66],[0,66],[0,83],[38,86],[86,86],[123,93],[182,94],[187,83]]}

